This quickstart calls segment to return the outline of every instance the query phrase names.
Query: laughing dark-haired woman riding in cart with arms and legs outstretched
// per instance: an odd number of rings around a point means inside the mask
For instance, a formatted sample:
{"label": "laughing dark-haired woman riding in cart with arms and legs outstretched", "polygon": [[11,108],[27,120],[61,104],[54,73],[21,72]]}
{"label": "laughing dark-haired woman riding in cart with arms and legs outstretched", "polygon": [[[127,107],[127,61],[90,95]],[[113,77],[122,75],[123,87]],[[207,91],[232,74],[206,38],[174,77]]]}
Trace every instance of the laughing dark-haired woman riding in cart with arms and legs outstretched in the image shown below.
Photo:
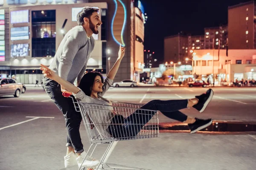
{"label": "laughing dark-haired woman riding in cart with arms and legs outstretched", "polygon": [[[125,48],[121,47],[120,45],[118,58],[115,64],[113,65],[113,68],[111,68],[111,70],[109,71],[105,81],[103,80],[103,77],[100,73],[89,72],[87,74],[84,74],[79,84],[79,87],[76,87],[70,82],[67,82],[66,80],[62,79],[57,74],[55,74],[54,71],[50,70],[45,65],[41,65],[40,69],[43,71],[43,74],[45,77],[55,80],[60,85],[62,85],[67,91],[72,92],[73,95],[76,97],[76,99],[79,100],[80,102],[111,105],[111,102],[103,98],[102,96],[105,94],[106,91],[108,91],[108,88],[111,86],[113,79],[116,75],[116,72],[119,68],[120,62],[124,57],[124,55],[125,55]],[[140,109],[160,111],[165,116],[171,119],[175,119],[177,121],[187,123],[191,130],[191,133],[195,133],[198,130],[201,130],[211,125],[212,119],[203,120],[203,119],[188,117],[185,114],[181,113],[179,110],[184,108],[194,107],[195,109],[197,109],[199,112],[202,113],[207,107],[207,105],[209,104],[210,100],[212,99],[212,96],[213,96],[213,91],[212,89],[209,89],[205,94],[201,94],[200,96],[195,96],[195,98],[193,99],[166,100],[166,101],[152,100],[146,103],[145,105],[143,105]],[[108,108],[108,110],[110,109],[111,109],[111,106]],[[138,114],[138,113],[141,113],[141,112],[142,110],[137,110],[127,118],[122,119],[123,125],[118,128],[111,125],[111,122],[112,123],[116,122],[117,119],[120,118],[120,117],[116,117],[113,114],[113,112],[104,114],[105,116],[102,118],[99,118],[98,116],[98,120],[96,118],[95,113],[94,114],[90,113],[90,117],[92,117],[94,123],[95,121],[98,121],[98,123],[101,124],[100,131],[103,135],[109,136],[110,134],[115,138],[129,137],[131,136],[130,134],[133,134],[134,136],[134,134],[136,135],[137,133],[139,133],[141,128],[151,119],[152,116],[154,116],[153,115],[154,112],[152,112],[152,115],[140,117],[142,114]],[[150,114],[151,112],[145,112],[145,113]],[[143,123],[140,122],[140,125],[138,125],[135,128],[132,125],[137,124],[136,120],[140,120]],[[126,131],[126,133],[124,133],[124,131]]]}

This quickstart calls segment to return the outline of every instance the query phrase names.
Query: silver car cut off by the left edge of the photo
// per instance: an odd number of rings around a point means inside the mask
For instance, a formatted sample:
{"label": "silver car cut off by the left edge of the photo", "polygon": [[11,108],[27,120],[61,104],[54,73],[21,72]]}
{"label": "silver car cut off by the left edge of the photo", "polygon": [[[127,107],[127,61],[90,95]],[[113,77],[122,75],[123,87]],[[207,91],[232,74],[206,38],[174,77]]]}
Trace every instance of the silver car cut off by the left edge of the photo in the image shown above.
{"label": "silver car cut off by the left edge of the photo", "polygon": [[0,96],[14,95],[19,97],[22,92],[22,83],[16,82],[15,79],[0,79]]}

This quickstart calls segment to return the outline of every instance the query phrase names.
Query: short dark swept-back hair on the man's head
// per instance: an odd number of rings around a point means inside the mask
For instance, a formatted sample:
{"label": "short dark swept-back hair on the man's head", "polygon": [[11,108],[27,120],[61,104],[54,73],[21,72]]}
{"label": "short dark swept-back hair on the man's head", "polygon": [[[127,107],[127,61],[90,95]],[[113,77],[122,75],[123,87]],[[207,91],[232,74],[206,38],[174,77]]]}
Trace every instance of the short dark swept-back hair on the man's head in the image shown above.
{"label": "short dark swept-back hair on the man's head", "polygon": [[77,24],[82,26],[84,24],[84,17],[90,19],[90,16],[92,16],[93,12],[99,12],[99,8],[89,6],[82,8],[82,10],[76,15]]}

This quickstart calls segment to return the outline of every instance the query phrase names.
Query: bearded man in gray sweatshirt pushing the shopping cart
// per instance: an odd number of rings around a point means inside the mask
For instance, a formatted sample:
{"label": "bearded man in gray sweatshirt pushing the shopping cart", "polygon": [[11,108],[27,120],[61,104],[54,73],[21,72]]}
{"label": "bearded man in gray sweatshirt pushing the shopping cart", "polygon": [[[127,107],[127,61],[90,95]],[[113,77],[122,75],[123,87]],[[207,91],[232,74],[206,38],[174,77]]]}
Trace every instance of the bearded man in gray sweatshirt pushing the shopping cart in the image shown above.
{"label": "bearded man in gray sweatshirt pushing the shopping cart", "polygon": [[[95,46],[95,40],[92,34],[99,33],[99,26],[102,22],[99,17],[99,8],[84,7],[77,14],[78,26],[72,28],[64,36],[61,44],[56,51],[54,59],[49,66],[61,78],[70,83],[77,84],[84,75],[88,59]],[[64,87],[57,82],[44,78],[44,89],[54,100],[55,105],[61,110],[65,117],[67,127],[67,155],[64,156],[65,167],[75,164],[81,165],[86,153],[83,149],[79,127],[81,124],[81,113],[76,112],[73,100],[62,96]],[[85,158],[83,166],[95,167],[99,161],[90,156]]]}

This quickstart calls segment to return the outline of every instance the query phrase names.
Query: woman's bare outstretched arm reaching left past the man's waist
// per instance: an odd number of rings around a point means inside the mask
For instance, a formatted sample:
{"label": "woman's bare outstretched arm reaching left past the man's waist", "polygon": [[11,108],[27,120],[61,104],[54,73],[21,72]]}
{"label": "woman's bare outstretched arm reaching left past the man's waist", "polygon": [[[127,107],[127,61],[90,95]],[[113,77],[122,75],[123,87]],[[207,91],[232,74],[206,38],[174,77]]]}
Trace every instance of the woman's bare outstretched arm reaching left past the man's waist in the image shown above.
{"label": "woman's bare outstretched arm reaching left past the man's waist", "polygon": [[58,82],[67,91],[69,91],[73,94],[77,94],[79,92],[79,88],[77,88],[75,85],[71,84],[70,82],[62,79],[61,77],[59,77],[54,71],[49,69],[47,66],[41,64],[40,69],[41,69],[41,71],[43,71],[43,74],[44,74],[45,77]]}

